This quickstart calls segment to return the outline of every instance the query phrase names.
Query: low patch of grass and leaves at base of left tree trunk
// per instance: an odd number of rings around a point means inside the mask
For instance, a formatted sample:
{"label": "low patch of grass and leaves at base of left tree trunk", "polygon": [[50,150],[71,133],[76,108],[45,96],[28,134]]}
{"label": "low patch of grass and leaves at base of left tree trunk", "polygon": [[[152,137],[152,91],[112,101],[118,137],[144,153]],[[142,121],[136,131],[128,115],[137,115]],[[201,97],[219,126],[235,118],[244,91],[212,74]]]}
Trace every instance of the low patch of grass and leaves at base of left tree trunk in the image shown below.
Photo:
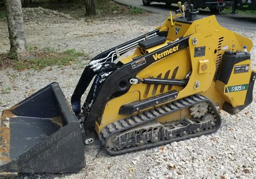
{"label": "low patch of grass and leaves at base of left tree trunk", "polygon": [[47,48],[53,54],[37,55],[37,58],[26,59],[25,61],[17,61],[14,68],[16,70],[35,69],[41,70],[49,66],[67,66],[76,62],[79,56],[84,56],[84,53],[78,52],[75,49],[67,49],[63,53],[56,53],[52,49]]}

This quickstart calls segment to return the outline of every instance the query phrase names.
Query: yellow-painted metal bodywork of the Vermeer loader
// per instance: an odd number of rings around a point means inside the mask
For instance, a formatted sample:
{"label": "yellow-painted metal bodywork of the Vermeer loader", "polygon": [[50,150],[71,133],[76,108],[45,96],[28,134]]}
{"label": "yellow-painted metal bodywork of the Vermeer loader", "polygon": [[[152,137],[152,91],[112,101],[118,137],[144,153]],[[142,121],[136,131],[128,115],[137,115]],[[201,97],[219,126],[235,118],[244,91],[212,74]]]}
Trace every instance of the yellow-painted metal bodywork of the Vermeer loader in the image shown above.
{"label": "yellow-painted metal bodywork of the Vermeer loader", "polygon": [[[252,41],[250,39],[242,37],[237,33],[221,27],[218,24],[215,16],[198,19],[192,24],[182,23],[180,21],[177,22],[175,19],[173,19],[173,25],[169,17],[165,20],[164,24],[158,28],[160,31],[168,31],[167,40],[164,44],[149,48],[146,51],[143,51],[140,49],[140,47],[137,47],[133,55],[128,56],[121,62],[124,64],[128,63],[132,61],[132,58],[136,56],[142,56],[147,53],[154,52],[157,49],[166,46],[169,42],[182,37],[186,37],[188,35],[190,35],[188,40],[189,46],[186,49],[182,49],[176,53],[166,56],[166,58],[154,62],[150,66],[139,71],[136,77],[147,78],[160,76],[161,78],[164,78],[166,72],[170,70],[170,74],[168,75],[168,78],[170,78],[172,71],[178,67],[176,79],[183,79],[188,73],[190,73],[190,71],[192,71],[192,73],[187,85],[184,88],[180,86],[172,87],[172,90],[179,91],[178,97],[175,100],[193,94],[202,94],[208,98],[211,98],[214,104],[219,106],[219,109],[222,108],[222,105],[225,101],[231,103],[233,107],[244,104],[246,91],[238,91],[233,92],[232,94],[225,94],[224,90],[226,85],[221,84],[221,82],[218,80],[214,81],[214,75],[216,67],[219,66],[219,56],[221,56],[227,49],[231,51],[241,50],[244,45],[247,46],[248,51],[251,51]],[[176,31],[177,28],[180,28],[178,33]],[[193,44],[193,38],[197,39],[196,44]],[[205,55],[195,57],[195,48],[204,46]],[[244,63],[250,63],[250,61],[241,62],[241,64]],[[204,64],[206,64],[207,67]],[[203,65],[204,68],[202,67]],[[230,81],[227,85],[248,83],[250,76],[251,67],[249,73],[231,75]],[[238,77],[242,78],[243,80],[237,81]],[[196,83],[199,84],[198,88],[195,86]],[[111,99],[105,106],[100,124],[98,124],[96,121],[96,132],[99,134],[100,130],[102,130],[102,128],[107,124],[131,116],[118,114],[120,106],[134,101],[141,101],[143,99],[147,99],[169,91],[167,87],[164,87],[163,92],[160,92],[160,86],[161,85],[158,85],[156,92],[152,93],[154,85],[151,85],[149,94],[145,96],[144,93],[148,86],[142,83],[133,84],[129,91],[126,92],[126,94]],[[179,120],[184,116],[190,116],[190,111],[188,109],[184,109],[182,111],[169,114],[165,117],[161,117],[158,119],[158,121],[165,123],[172,120]]]}

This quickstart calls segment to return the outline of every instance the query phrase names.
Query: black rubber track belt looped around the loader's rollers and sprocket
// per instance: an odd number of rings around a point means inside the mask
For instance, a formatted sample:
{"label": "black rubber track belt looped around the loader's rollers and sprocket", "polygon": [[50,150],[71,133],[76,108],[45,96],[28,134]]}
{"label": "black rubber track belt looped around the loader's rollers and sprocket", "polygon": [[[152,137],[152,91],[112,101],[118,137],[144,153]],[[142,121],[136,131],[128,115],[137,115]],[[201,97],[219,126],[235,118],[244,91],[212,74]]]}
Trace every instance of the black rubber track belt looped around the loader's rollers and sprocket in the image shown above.
{"label": "black rubber track belt looped around the loader's rollers and sprocket", "polygon": [[[143,125],[145,123],[148,123],[150,121],[156,120],[160,117],[166,116],[167,114],[189,108],[195,104],[201,103],[201,102],[207,102],[210,106],[212,111],[214,112],[217,121],[215,122],[215,126],[213,126],[210,130],[201,131],[197,134],[188,134],[185,137],[176,137],[171,140],[160,140],[157,143],[148,143],[144,146],[132,146],[132,147],[126,147],[120,150],[111,150],[106,147],[107,140],[114,134],[129,130],[130,128]],[[111,123],[107,126],[105,126],[102,131],[100,131],[99,134],[99,140],[104,146],[106,152],[110,155],[120,155],[127,152],[133,152],[138,151],[140,149],[146,149],[151,148],[159,145],[165,145],[169,144],[173,141],[180,141],[185,140],[193,137],[199,137],[200,135],[210,134],[218,130],[218,128],[221,125],[221,117],[217,109],[215,108],[215,105],[211,102],[210,99],[202,96],[202,95],[192,95],[183,99],[179,99],[176,102],[167,103],[165,105],[159,106],[157,108],[154,108],[149,111],[145,111],[139,114],[136,114],[134,116],[121,119],[118,121],[114,121],[114,123]]]}

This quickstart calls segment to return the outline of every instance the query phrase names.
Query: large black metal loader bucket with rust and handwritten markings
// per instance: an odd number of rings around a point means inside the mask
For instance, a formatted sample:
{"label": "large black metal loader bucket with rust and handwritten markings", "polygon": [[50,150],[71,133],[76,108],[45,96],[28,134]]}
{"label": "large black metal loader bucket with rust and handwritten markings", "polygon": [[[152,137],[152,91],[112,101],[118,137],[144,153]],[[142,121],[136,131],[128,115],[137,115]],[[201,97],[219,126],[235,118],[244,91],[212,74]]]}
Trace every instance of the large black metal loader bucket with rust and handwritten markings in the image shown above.
{"label": "large black metal loader bucket with rust and handwritten markings", "polygon": [[84,167],[80,123],[58,83],[51,83],[0,118],[0,173],[64,173]]}

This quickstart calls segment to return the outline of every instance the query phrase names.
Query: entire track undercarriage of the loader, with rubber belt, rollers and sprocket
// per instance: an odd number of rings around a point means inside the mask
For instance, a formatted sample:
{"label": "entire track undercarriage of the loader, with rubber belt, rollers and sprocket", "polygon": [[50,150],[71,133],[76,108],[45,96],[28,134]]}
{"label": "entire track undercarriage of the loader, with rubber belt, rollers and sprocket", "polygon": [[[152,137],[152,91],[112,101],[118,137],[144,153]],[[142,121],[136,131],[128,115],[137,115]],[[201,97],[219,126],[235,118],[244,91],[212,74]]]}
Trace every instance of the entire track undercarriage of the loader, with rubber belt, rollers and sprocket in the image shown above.
{"label": "entire track undercarriage of the loader, with rubber belt, rollers and sprocket", "polygon": [[[184,117],[170,123],[157,121],[186,108],[191,111],[191,119]],[[193,95],[109,124],[103,128],[99,139],[107,153],[118,155],[210,134],[217,131],[220,124],[219,112],[210,99]]]}

